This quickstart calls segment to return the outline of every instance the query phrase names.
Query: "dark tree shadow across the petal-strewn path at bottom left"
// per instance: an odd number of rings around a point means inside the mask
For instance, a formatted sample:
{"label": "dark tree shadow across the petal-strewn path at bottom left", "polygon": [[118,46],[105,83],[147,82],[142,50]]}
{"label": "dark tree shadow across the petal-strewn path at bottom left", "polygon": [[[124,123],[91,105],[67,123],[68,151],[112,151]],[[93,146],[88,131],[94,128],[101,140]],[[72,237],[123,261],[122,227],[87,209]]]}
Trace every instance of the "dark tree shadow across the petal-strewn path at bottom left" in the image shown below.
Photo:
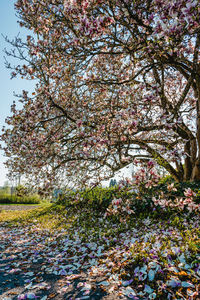
{"label": "dark tree shadow across the petal-strewn path at bottom left", "polygon": [[[15,255],[17,254],[19,253],[15,253]],[[13,263],[16,269],[13,268]],[[17,263],[19,263],[20,270],[17,270]],[[55,300],[127,299],[127,297],[118,297],[117,294],[110,295],[102,289],[98,282],[101,282],[104,278],[98,277],[95,280],[95,278],[90,278],[87,273],[83,272],[78,278],[68,281],[66,276],[41,272],[41,266],[42,263],[30,265],[28,271],[32,272],[33,276],[27,276],[26,273],[23,273],[23,268],[27,269],[27,266],[23,266],[18,259],[10,258],[10,255],[6,253],[6,257],[0,259],[0,300],[27,299],[27,295],[30,296],[30,294],[35,295],[35,299],[42,299],[44,296],[47,296],[46,299]],[[31,282],[32,287],[30,287]],[[90,290],[84,289],[86,283],[92,285]],[[21,295],[21,298],[19,295]]]}

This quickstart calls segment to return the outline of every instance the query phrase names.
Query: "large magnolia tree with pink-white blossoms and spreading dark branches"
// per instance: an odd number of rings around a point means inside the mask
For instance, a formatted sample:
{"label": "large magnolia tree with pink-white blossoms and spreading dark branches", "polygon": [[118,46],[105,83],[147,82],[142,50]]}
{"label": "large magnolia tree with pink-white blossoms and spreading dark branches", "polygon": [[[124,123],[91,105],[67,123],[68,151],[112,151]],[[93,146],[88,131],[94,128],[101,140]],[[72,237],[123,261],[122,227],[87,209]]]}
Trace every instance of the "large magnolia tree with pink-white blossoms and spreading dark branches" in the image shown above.
{"label": "large magnolia tree with pink-white blossoms and spreading dark branches", "polygon": [[32,34],[12,77],[36,79],[1,138],[10,171],[53,183],[155,161],[200,180],[198,0],[18,0]]}

